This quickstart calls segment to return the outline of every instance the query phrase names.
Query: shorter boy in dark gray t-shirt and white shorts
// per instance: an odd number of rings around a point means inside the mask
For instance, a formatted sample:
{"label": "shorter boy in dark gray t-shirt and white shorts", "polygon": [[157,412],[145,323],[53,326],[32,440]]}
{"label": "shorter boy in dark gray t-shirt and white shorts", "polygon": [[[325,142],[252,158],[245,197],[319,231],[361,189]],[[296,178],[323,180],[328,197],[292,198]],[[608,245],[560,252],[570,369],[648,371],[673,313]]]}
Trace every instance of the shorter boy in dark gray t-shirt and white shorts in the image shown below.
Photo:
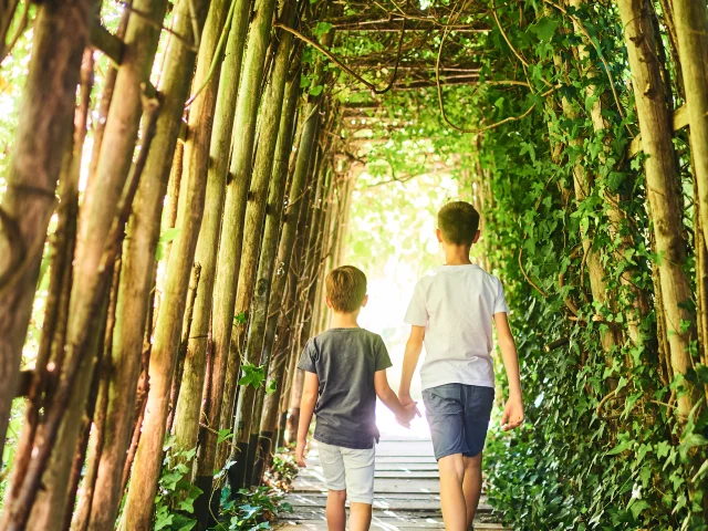
{"label": "shorter boy in dark gray t-shirt and white shorts", "polygon": [[298,368],[305,371],[298,427],[298,465],[304,452],[312,415],[317,417],[317,441],[327,485],[326,518],[330,530],[344,531],[344,504],[350,500],[350,531],[365,531],[374,501],[374,441],[376,396],[407,426],[417,414],[415,403],[404,407],[388,386],[391,360],[379,335],[356,322],[366,305],[366,277],[343,266],[325,279],[326,303],[334,312],[332,327],[308,342]]}

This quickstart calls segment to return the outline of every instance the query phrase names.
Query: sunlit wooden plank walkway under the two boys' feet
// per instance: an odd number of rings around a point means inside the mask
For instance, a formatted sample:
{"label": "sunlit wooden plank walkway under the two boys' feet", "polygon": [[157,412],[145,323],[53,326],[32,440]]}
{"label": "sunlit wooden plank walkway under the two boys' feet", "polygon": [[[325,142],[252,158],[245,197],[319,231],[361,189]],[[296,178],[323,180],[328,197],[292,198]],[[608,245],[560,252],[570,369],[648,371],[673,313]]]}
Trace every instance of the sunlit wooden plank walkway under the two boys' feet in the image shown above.
{"label": "sunlit wooden plank walkway under the two boys' feet", "polygon": [[[386,419],[388,420],[388,419]],[[372,529],[387,531],[407,529],[445,529],[440,516],[440,485],[433,444],[427,430],[417,420],[414,433],[404,433],[398,426],[382,428],[382,440],[376,447],[376,476],[374,518]],[[316,444],[316,442],[315,442]],[[283,514],[279,521],[281,530],[324,530],[326,487],[316,446],[308,455],[308,468],[293,483],[288,502],[294,512]],[[477,531],[500,531],[493,523],[491,507],[482,496],[475,521]]]}

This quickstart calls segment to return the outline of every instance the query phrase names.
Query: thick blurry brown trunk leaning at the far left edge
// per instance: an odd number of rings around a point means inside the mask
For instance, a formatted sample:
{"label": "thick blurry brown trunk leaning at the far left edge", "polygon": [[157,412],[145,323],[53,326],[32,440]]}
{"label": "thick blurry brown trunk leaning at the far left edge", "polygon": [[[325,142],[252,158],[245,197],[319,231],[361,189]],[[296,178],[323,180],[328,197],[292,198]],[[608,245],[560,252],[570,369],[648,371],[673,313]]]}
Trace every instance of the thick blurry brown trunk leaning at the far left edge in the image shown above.
{"label": "thick blurry brown trunk leaning at the far left edge", "polygon": [[92,3],[44,2],[34,23],[8,188],[0,205],[0,455],[19,381],[46,227],[55,207],[56,180],[72,135]]}

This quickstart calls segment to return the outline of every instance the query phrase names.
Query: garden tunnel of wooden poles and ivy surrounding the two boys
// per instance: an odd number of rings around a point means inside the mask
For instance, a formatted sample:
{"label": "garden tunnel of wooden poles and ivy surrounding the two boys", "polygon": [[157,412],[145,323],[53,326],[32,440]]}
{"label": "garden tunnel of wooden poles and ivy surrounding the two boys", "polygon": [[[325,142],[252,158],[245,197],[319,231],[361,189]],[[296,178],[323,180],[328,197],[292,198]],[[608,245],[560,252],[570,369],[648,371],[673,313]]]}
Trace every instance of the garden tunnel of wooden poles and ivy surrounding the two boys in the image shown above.
{"label": "garden tunnel of wooden poles and ivy surrounding the two boys", "polygon": [[521,357],[500,518],[708,529],[705,0],[8,0],[0,32],[0,529],[248,529],[323,274],[423,274],[452,197]]}

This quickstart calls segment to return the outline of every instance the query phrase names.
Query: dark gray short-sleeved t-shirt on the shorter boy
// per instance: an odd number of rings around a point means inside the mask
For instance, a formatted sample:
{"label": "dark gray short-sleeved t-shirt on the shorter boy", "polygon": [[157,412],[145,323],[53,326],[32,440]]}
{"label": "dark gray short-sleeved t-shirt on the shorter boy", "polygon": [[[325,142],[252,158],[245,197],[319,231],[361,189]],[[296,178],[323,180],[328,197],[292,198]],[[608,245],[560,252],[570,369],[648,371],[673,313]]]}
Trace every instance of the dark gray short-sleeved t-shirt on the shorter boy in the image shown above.
{"label": "dark gray short-sleeved t-shirt on the shorter boy", "polygon": [[305,345],[298,368],[320,381],[314,438],[365,449],[378,441],[374,373],[392,366],[381,335],[364,329],[330,329]]}

